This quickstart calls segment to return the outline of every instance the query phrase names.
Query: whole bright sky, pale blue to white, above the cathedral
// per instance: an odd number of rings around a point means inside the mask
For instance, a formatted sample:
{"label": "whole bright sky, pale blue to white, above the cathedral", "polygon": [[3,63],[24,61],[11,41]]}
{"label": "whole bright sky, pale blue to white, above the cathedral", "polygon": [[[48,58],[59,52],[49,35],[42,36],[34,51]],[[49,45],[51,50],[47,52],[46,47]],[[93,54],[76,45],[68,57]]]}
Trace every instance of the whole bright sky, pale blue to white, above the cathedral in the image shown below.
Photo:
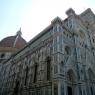
{"label": "whole bright sky, pale blue to white, above the cathedral", "polygon": [[0,0],[0,40],[14,36],[20,29],[22,37],[29,41],[59,16],[73,8],[80,14],[87,8],[95,13],[95,0]]}

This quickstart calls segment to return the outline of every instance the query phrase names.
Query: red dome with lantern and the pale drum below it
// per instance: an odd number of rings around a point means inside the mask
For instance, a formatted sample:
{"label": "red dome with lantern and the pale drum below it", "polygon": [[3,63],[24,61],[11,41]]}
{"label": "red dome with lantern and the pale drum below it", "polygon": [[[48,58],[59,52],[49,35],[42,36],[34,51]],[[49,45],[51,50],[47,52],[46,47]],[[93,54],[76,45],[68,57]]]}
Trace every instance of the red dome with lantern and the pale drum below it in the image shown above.
{"label": "red dome with lantern and the pale drum below it", "polygon": [[27,44],[21,34],[20,29],[15,36],[9,36],[0,41],[0,62],[7,60]]}

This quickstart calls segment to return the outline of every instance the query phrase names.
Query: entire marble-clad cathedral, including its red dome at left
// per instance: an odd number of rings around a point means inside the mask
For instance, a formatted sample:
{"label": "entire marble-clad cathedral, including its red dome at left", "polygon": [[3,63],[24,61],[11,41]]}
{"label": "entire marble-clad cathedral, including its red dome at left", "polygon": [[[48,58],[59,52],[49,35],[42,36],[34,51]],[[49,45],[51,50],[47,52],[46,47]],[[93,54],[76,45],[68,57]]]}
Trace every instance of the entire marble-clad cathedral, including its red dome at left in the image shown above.
{"label": "entire marble-clad cathedral, including its red dome at left", "polygon": [[66,14],[29,42],[0,41],[0,95],[95,95],[95,14]]}

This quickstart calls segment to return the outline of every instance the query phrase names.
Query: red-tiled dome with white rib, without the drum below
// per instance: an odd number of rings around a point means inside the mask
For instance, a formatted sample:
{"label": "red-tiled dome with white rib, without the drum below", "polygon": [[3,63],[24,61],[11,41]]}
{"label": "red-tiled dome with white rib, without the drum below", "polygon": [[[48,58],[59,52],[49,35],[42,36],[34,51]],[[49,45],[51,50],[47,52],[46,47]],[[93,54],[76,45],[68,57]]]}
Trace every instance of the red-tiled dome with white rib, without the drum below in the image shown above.
{"label": "red-tiled dome with white rib, without the drum below", "polygon": [[[21,34],[21,33],[20,33]],[[11,47],[20,49],[26,45],[26,41],[18,32],[15,36],[9,36],[0,41],[0,47]]]}

